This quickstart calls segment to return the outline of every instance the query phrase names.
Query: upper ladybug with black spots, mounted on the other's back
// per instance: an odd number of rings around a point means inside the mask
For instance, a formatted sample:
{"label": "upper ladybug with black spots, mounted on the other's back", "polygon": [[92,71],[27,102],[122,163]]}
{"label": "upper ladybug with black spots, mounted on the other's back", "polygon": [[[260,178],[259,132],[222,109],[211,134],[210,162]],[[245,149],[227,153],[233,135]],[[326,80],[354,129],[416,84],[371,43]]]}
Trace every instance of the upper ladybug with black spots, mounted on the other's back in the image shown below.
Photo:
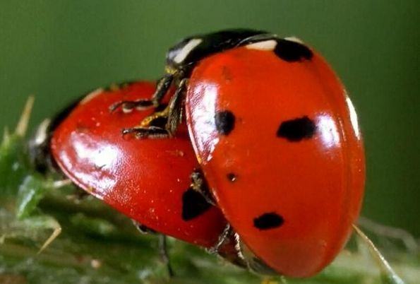
{"label": "upper ladybug with black spots, mounted on the other's back", "polygon": [[[364,194],[364,146],[340,79],[296,38],[256,30],[188,37],[169,49],[150,100],[168,107],[124,134],[174,136],[186,122],[212,197],[259,273],[304,278],[344,247]],[[167,119],[162,129],[152,127]]]}

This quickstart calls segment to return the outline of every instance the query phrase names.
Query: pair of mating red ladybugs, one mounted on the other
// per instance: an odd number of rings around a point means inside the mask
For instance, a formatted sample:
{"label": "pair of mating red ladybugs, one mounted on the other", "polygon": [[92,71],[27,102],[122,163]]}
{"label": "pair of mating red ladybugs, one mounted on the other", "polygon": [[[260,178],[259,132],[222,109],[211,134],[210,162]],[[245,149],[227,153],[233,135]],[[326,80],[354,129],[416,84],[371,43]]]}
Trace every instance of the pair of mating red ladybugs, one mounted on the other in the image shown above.
{"label": "pair of mating red ladybugs, one mounted on the other", "polygon": [[182,40],[156,86],[96,90],[32,144],[39,165],[51,156],[141,229],[259,273],[323,269],[363,199],[364,148],[339,78],[299,40],[256,30]]}

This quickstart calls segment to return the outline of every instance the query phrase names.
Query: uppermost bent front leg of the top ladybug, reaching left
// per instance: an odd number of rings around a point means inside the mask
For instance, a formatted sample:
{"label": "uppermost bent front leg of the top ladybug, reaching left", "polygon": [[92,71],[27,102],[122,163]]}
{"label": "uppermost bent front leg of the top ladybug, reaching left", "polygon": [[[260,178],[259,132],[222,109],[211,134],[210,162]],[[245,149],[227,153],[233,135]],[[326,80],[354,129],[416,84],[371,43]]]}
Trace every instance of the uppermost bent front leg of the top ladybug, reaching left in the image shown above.
{"label": "uppermost bent front leg of the top ladybug, reaching left", "polygon": [[109,107],[110,112],[114,112],[119,107],[124,113],[136,110],[147,110],[151,107],[157,107],[167,94],[169,87],[174,81],[174,73],[166,73],[159,81],[157,81],[156,92],[152,95],[150,100],[121,100]]}

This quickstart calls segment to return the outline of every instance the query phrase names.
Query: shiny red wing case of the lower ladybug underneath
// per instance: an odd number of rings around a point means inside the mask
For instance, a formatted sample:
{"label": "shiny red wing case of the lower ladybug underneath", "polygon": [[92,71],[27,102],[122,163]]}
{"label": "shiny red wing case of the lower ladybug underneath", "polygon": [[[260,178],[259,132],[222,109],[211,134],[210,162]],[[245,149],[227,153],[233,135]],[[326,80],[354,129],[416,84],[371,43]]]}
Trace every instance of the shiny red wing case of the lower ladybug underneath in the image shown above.
{"label": "shiny red wing case of the lower ladybug underneath", "polygon": [[210,206],[191,220],[181,218],[183,194],[198,167],[186,126],[175,138],[138,139],[122,136],[121,129],[136,126],[152,110],[109,112],[115,102],[148,99],[154,91],[154,84],[138,82],[91,93],[55,129],[52,155],[78,187],[142,225],[212,247],[226,225],[218,208]]}

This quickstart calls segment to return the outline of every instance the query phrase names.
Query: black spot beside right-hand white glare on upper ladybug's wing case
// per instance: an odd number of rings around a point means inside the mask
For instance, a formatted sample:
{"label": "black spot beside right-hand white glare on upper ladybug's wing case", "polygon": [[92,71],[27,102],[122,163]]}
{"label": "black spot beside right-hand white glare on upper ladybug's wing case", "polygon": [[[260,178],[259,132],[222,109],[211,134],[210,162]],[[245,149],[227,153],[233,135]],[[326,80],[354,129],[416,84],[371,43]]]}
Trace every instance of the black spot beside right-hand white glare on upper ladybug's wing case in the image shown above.
{"label": "black spot beside right-hand white glare on upper ladybug's wing case", "polygon": [[291,119],[280,124],[277,136],[289,141],[297,142],[304,138],[311,138],[315,134],[316,125],[308,117]]}

